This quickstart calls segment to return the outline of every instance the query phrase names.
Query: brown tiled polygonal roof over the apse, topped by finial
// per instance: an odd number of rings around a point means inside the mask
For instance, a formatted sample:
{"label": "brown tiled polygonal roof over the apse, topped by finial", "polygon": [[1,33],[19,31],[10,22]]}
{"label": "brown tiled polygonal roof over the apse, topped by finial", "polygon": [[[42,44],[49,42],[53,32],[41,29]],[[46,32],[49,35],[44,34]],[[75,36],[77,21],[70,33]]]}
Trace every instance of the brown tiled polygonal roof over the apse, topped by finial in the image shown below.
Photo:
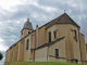
{"label": "brown tiled polygonal roof over the apse, topped by finial", "polygon": [[54,24],[73,24],[73,25],[79,27],[66,13],[63,13],[59,17],[52,20],[51,23],[46,28],[48,28]]}

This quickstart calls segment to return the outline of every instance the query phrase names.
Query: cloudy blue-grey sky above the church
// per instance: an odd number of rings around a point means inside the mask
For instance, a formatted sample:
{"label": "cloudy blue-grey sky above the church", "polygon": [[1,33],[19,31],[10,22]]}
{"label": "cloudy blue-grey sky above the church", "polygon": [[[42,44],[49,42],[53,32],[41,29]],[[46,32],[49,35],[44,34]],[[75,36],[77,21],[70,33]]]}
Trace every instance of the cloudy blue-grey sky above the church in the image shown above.
{"label": "cloudy blue-grey sky above the church", "polygon": [[20,40],[24,23],[29,17],[34,29],[65,12],[80,26],[87,43],[87,0],[0,0],[0,52]]}

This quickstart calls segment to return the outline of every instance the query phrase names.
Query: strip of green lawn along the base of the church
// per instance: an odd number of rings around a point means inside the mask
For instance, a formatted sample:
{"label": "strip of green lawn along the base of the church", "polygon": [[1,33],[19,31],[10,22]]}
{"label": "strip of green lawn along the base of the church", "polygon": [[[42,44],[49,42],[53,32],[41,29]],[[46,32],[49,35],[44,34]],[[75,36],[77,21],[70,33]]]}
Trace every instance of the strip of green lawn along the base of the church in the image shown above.
{"label": "strip of green lawn along the base of the church", "polygon": [[5,62],[4,65],[83,65],[83,64],[61,63],[61,62]]}

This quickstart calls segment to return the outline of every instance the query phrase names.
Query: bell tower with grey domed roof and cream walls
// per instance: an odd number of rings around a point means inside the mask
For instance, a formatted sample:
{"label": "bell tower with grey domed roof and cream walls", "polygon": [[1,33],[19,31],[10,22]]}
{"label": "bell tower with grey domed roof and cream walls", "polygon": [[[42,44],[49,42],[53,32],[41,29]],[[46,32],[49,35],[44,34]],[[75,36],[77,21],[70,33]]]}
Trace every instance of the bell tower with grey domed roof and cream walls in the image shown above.
{"label": "bell tower with grey domed roof and cream walls", "polygon": [[21,38],[24,38],[26,35],[30,34],[33,31],[33,25],[29,22],[29,18],[24,23],[23,29],[21,30]]}

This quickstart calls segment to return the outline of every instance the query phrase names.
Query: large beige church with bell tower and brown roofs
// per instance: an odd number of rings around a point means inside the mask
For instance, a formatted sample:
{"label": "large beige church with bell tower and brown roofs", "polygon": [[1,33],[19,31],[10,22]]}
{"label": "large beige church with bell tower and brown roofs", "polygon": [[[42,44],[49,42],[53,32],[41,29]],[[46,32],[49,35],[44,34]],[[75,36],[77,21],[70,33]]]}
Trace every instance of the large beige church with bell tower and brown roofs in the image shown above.
{"label": "large beige church with bell tower and brown roofs", "polygon": [[64,62],[87,64],[87,46],[80,27],[64,12],[42,25],[25,22],[20,40],[5,52],[5,62]]}

